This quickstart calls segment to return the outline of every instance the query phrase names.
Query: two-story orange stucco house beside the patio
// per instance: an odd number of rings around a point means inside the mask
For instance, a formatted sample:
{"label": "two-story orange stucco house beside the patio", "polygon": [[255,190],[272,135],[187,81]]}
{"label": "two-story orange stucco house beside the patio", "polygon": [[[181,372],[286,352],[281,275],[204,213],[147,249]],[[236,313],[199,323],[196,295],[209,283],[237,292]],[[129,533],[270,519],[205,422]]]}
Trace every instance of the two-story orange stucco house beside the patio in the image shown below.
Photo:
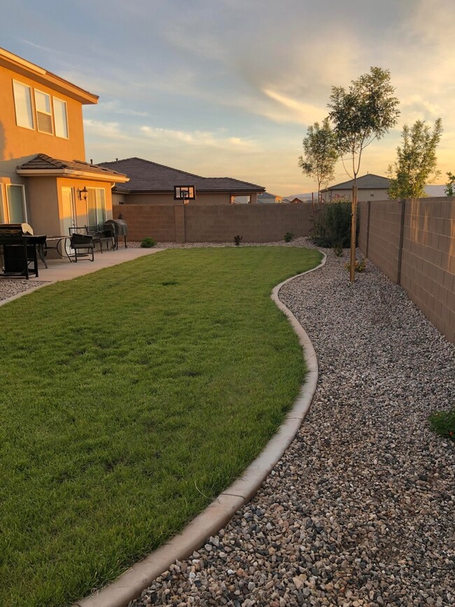
{"label": "two-story orange stucco house beside the patio", "polygon": [[97,95],[0,48],[0,223],[68,235],[112,217],[128,178],[85,162],[82,106]]}

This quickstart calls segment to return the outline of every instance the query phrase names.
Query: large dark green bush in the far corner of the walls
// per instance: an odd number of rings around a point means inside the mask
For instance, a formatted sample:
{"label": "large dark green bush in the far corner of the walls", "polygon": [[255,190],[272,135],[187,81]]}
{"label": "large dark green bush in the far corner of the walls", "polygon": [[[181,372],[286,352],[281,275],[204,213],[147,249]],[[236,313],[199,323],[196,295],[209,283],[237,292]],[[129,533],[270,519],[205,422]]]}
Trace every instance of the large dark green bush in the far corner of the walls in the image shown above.
{"label": "large dark green bush in the far corner of the walls", "polygon": [[351,202],[329,202],[316,211],[311,242],[346,249],[351,242]]}

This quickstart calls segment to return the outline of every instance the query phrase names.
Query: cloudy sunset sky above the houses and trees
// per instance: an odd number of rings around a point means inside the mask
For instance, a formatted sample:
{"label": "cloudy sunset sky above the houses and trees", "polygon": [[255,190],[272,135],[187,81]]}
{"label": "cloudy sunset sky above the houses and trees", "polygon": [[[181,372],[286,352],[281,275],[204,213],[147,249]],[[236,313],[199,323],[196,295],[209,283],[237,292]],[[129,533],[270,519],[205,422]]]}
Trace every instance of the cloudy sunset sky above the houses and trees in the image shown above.
{"label": "cloudy sunset sky above the houses and trees", "polygon": [[[403,125],[442,118],[455,172],[453,0],[15,0],[0,46],[99,95],[86,158],[138,156],[275,195],[316,190],[298,157],[332,86],[388,69],[398,124],[365,151],[386,176]],[[335,181],[350,176],[337,162]]]}

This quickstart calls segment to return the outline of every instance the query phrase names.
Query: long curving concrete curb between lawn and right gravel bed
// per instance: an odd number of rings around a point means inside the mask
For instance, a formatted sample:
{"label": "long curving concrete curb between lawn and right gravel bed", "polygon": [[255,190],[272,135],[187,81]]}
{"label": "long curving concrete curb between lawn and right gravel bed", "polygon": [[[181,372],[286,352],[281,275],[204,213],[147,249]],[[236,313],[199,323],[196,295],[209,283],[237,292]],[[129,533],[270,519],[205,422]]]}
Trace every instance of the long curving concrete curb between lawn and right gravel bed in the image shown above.
{"label": "long curving concrete curb between lawn and right gravel bed", "polygon": [[309,410],[318,382],[318,361],[313,345],[292,312],[279,300],[278,294],[283,285],[297,277],[318,270],[325,265],[326,260],[327,257],[323,254],[323,260],[317,267],[281,282],[271,294],[272,300],[286,314],[297,333],[303,349],[304,360],[307,363],[305,383],[300,388],[293,408],[286,415],[274,437],[269,440],[262,453],[246,468],[243,475],[225,489],[200,515],[197,515],[179,535],[174,536],[158,550],[148,554],[145,559],[133,565],[117,580],[85,599],[77,601],[72,607],[127,607],[128,603],[136,599],[155,578],[167,571],[172,563],[176,560],[186,559],[204,545],[207,538],[215,535],[225,526],[235,512],[250,501],[258,491],[262,482],[295,438]]}

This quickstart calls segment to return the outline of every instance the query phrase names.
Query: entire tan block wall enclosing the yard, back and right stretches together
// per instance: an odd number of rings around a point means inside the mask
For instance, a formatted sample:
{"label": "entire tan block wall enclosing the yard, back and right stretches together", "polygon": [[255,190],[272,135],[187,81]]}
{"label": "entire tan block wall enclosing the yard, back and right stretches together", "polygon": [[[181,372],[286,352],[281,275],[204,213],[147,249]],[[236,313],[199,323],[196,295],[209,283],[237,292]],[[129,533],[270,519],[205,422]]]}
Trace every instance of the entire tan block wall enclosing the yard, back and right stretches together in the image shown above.
{"label": "entire tan block wall enclosing the yard, back and right stretches together", "polygon": [[[374,200],[358,205],[359,246],[455,343],[455,197]],[[130,240],[274,242],[311,232],[311,204],[116,204]]]}

